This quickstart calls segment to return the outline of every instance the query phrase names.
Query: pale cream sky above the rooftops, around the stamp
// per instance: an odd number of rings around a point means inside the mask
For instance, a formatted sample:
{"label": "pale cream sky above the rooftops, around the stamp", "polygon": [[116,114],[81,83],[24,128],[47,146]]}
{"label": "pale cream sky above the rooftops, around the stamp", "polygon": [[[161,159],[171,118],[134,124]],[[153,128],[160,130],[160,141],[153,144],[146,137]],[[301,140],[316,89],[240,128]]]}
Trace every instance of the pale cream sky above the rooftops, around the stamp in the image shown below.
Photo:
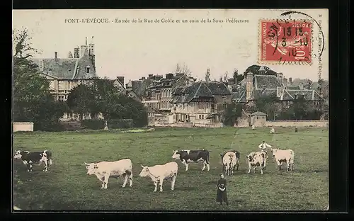
{"label": "pale cream sky above the rooftops, around the stamp", "polygon": [[[325,36],[321,78],[328,79],[328,11],[302,10],[321,20]],[[13,28],[30,30],[33,47],[41,51],[34,57],[67,57],[74,47],[85,44],[85,37],[95,43],[96,72],[99,77],[139,79],[147,74],[174,72],[177,63],[188,65],[193,77],[204,78],[210,68],[211,79],[219,79],[234,69],[243,73],[258,64],[259,20],[279,18],[278,10],[16,10]],[[319,16],[321,14],[321,16]],[[107,18],[108,23],[68,23],[90,18]],[[133,19],[160,20],[160,23],[132,23]],[[161,23],[161,19],[174,23]],[[224,20],[223,23],[191,23],[201,19]],[[226,19],[248,20],[226,23]],[[295,17],[292,17],[295,18]],[[299,17],[302,18],[302,17]],[[130,20],[116,23],[115,20]],[[185,19],[188,23],[176,23]],[[314,28],[314,53],[318,53],[318,30]],[[318,79],[319,64],[266,65],[285,77]]]}

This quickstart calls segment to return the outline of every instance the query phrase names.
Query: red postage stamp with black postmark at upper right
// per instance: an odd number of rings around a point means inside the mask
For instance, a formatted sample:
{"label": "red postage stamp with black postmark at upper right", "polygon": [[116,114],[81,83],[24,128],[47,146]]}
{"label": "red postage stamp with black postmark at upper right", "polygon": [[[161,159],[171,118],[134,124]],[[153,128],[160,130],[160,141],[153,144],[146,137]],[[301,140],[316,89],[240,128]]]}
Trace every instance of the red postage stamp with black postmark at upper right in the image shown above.
{"label": "red postage stamp with black postmark at upper right", "polygon": [[310,21],[261,20],[260,28],[260,63],[312,64]]}

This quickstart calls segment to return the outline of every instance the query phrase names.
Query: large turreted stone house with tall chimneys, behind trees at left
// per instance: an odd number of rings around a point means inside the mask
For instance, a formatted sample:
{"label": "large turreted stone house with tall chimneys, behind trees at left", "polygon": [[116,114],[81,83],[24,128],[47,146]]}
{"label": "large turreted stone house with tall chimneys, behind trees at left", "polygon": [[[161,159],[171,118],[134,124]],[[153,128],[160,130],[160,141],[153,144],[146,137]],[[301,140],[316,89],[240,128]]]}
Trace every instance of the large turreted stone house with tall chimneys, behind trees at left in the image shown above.
{"label": "large turreted stone house with tall chimneys, behind trees at left", "polygon": [[[92,37],[93,39],[93,37]],[[95,64],[95,45],[87,44],[74,48],[74,57],[69,52],[67,57],[60,57],[58,52],[50,58],[33,58],[38,65],[40,74],[50,81],[50,91],[58,101],[67,101],[69,92],[79,84],[91,81],[97,77]],[[66,113],[62,120],[77,118],[74,113]],[[84,118],[91,118],[90,114]]]}

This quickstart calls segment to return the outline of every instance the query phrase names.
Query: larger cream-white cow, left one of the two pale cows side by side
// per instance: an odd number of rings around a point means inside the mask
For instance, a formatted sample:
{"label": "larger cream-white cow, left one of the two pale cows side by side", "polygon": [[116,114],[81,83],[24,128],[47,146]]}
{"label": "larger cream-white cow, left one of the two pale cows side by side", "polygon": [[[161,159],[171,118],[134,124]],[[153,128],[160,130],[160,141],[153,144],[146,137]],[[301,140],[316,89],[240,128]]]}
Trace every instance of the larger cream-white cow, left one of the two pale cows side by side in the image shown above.
{"label": "larger cream-white cow, left one of the two pale cows side by side", "polygon": [[[86,164],[86,162],[85,162]],[[108,179],[110,177],[117,178],[122,175],[124,183],[122,187],[127,185],[129,178],[129,186],[132,187],[132,161],[130,159],[121,159],[115,162],[98,162],[86,164],[87,175],[96,175],[101,181],[101,188],[107,188]]]}

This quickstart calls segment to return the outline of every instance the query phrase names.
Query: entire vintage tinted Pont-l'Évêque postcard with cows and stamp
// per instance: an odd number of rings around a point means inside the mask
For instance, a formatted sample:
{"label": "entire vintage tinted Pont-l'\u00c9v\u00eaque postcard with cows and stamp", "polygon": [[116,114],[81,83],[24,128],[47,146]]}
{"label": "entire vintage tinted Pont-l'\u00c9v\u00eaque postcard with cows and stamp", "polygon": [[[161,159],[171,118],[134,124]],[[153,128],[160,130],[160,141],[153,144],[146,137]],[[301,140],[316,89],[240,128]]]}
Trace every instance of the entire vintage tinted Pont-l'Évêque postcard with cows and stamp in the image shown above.
{"label": "entire vintage tinted Pont-l'\u00c9v\u00eaque postcard with cows and stamp", "polygon": [[329,10],[13,10],[13,210],[329,209]]}

